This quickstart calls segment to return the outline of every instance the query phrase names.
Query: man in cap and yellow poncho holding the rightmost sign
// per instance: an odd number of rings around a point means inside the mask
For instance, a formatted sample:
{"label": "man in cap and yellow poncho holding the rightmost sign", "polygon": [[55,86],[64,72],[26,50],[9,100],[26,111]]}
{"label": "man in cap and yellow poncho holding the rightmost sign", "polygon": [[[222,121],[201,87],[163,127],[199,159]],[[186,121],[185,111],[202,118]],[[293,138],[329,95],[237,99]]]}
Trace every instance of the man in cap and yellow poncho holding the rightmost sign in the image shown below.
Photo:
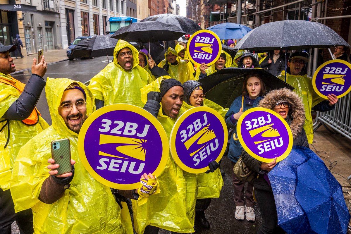
{"label": "man in cap and yellow poncho holding the rightmost sign", "polygon": [[[334,94],[328,95],[328,100],[319,97],[313,90],[312,79],[307,77],[305,64],[308,62],[307,53],[295,52],[292,53],[287,62],[286,82],[293,86],[296,92],[302,99],[306,120],[304,129],[307,135],[307,140],[311,144],[313,140],[313,120],[311,110],[325,112],[335,108],[338,98]],[[278,78],[285,80],[285,71],[283,70]]]}

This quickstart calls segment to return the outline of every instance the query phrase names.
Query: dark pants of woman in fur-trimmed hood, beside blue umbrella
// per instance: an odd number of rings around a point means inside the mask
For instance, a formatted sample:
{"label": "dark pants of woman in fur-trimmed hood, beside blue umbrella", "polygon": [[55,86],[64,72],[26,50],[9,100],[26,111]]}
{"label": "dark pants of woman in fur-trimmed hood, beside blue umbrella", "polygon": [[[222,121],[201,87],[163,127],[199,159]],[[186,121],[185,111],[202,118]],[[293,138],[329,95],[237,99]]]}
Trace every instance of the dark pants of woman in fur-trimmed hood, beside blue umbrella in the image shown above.
{"label": "dark pants of woman in fur-trimmed hood, beside blue umbrella", "polygon": [[277,225],[278,216],[273,192],[255,188],[255,197],[262,217],[262,224],[257,234],[285,234],[285,231]]}

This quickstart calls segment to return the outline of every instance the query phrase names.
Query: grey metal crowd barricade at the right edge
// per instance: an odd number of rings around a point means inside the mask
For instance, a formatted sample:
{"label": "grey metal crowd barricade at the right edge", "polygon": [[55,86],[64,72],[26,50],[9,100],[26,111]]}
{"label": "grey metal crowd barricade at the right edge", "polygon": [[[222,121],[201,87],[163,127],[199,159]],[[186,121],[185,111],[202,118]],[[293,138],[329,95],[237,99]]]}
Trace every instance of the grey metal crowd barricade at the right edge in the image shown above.
{"label": "grey metal crowd barricade at the right edge", "polygon": [[317,112],[313,132],[321,125],[331,128],[351,140],[351,93],[339,99],[336,107],[327,112]]}

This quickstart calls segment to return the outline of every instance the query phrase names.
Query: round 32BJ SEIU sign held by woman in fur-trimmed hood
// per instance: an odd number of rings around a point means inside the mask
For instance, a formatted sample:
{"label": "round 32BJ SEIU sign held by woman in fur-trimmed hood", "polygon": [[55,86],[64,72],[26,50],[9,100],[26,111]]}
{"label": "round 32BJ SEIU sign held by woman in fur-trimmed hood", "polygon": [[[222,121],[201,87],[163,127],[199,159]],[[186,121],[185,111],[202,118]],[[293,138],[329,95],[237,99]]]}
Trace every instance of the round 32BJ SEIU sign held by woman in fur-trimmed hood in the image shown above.
{"label": "round 32BJ SEIU sign held by woman in fur-trimmed hood", "polygon": [[287,122],[276,112],[254,107],[245,111],[237,123],[241,146],[253,158],[262,162],[277,162],[289,155],[292,133]]}

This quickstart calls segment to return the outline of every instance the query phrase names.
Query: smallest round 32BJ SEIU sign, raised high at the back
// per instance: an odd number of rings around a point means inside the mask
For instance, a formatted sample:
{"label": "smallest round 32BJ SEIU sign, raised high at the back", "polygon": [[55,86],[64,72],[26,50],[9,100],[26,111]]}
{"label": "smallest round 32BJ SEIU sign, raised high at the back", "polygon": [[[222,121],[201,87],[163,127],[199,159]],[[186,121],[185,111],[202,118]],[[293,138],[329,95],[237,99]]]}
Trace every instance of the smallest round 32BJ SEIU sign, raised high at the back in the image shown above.
{"label": "smallest round 32BJ SEIU sign, raised high at the back", "polygon": [[186,50],[193,63],[212,65],[220,56],[222,44],[216,33],[210,30],[200,30],[194,33],[188,41]]}

